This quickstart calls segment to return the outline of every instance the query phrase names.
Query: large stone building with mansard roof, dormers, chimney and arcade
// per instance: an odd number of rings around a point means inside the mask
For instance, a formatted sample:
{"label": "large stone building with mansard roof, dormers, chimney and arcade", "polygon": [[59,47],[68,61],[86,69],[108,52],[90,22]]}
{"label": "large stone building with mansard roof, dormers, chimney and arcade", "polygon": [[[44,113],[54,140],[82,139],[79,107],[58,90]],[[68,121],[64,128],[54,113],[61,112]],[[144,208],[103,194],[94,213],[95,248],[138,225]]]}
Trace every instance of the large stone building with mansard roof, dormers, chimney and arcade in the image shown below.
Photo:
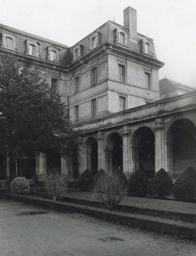
{"label": "large stone building with mansard roof, dormers, chimney and arcade", "polygon": [[[150,177],[162,167],[175,179],[196,167],[196,92],[160,100],[164,63],[137,32],[137,11],[123,15],[123,26],[109,20],[72,47],[0,25],[0,52],[39,65],[82,129],[80,150],[61,158],[63,173],[120,167],[129,177],[142,168]],[[46,155],[36,159],[40,178],[46,168]]]}

